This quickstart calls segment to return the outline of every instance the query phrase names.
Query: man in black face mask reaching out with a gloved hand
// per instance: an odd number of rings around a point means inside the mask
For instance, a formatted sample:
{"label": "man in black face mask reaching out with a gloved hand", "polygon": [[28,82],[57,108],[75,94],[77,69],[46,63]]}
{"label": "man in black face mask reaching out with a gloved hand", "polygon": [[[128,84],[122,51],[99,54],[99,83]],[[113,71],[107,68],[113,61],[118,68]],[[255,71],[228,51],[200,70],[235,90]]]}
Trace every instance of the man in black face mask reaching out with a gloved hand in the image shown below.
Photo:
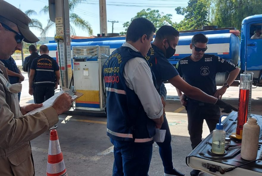
{"label": "man in black face mask reaching out with a gloved hand", "polygon": [[[230,104],[225,103],[213,96],[207,95],[200,89],[189,85],[179,76],[176,68],[167,60],[175,54],[178,40],[179,32],[172,26],[164,25],[156,32],[155,40],[152,43],[152,48],[149,49],[146,56],[146,60],[148,60],[152,67],[153,73],[155,74],[157,84],[156,89],[162,98],[163,106],[165,105],[166,95],[160,93],[164,92],[160,91],[160,87],[164,81],[169,81],[174,87],[180,89],[183,92],[186,92],[185,94],[192,99],[206,103],[217,104],[220,108],[224,108],[224,111],[227,113],[231,112],[232,109],[237,111],[237,109],[232,107]],[[166,136],[163,143],[157,142],[157,144],[159,146],[159,153],[164,166],[164,176],[183,176],[185,174],[173,168],[171,133],[165,113],[163,114],[164,122],[161,126],[161,129],[166,130]]]}

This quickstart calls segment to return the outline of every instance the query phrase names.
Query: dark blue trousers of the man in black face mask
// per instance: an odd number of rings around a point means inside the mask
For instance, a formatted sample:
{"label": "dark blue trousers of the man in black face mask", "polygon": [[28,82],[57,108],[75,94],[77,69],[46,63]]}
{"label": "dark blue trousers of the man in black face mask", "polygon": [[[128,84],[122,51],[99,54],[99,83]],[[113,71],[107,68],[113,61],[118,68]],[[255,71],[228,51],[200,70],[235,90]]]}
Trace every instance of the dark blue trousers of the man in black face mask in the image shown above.
{"label": "dark blue trousers of the man in black face mask", "polygon": [[171,147],[171,133],[169,130],[166,116],[164,116],[164,122],[161,126],[161,130],[166,130],[166,136],[164,142],[157,142],[159,146],[159,154],[163,162],[164,172],[169,173],[173,170],[172,162],[172,147]]}

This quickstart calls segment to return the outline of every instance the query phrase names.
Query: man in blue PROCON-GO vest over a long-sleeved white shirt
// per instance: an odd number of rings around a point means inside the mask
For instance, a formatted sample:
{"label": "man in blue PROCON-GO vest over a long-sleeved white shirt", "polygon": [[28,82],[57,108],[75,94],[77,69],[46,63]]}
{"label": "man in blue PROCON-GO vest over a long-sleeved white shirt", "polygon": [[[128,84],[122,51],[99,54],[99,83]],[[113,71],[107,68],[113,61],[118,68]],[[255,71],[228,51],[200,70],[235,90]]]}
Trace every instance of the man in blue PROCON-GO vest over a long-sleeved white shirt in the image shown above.
{"label": "man in blue PROCON-GO vest over a long-sleeved white shirt", "polygon": [[145,56],[155,26],[136,18],[126,42],[103,67],[107,92],[107,135],[114,145],[113,176],[146,176],[152,158],[155,128],[163,122],[163,105]]}

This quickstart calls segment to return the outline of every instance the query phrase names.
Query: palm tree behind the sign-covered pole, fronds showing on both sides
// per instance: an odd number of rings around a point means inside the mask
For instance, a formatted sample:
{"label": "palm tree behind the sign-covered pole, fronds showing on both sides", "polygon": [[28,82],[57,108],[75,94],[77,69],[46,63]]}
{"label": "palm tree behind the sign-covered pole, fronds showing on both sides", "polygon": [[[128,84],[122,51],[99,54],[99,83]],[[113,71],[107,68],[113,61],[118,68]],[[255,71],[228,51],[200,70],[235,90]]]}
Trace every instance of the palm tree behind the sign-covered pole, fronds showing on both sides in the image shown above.
{"label": "palm tree behind the sign-covered pole, fronds showing on both sides", "polygon": [[[70,33],[75,35],[75,30],[72,24],[74,24],[76,27],[88,32],[89,35],[93,34],[93,29],[91,27],[91,24],[88,21],[85,21],[82,19],[79,15],[74,13],[74,8],[80,4],[82,1],[87,0],[69,0],[69,22],[70,22]],[[43,9],[40,11],[45,14],[49,13],[49,7],[48,5],[44,6]],[[42,36],[46,36],[46,33],[48,30],[54,25],[55,23],[49,19],[46,27],[44,28],[44,31],[41,33]]]}

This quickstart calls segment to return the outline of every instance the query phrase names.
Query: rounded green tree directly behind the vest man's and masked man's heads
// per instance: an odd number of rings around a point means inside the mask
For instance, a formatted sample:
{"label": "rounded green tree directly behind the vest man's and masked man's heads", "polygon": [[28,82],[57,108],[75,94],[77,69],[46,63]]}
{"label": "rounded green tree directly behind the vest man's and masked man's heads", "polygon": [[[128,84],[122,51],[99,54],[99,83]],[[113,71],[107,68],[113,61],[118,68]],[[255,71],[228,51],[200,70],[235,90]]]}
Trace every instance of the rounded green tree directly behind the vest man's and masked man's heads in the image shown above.
{"label": "rounded green tree directly behind the vest man's and masked man's heads", "polygon": [[[151,10],[150,8],[148,9],[143,9],[140,12],[138,12],[134,18],[131,18],[131,21],[135,18],[139,17],[144,17],[151,21],[156,29],[159,29],[163,25],[173,25],[173,22],[171,21],[172,15],[171,14],[166,14],[163,15],[163,12],[159,12],[159,10]],[[123,27],[125,28],[124,32],[120,32],[121,35],[124,35],[127,33],[127,28],[130,25],[131,21],[127,21],[123,24]]]}

